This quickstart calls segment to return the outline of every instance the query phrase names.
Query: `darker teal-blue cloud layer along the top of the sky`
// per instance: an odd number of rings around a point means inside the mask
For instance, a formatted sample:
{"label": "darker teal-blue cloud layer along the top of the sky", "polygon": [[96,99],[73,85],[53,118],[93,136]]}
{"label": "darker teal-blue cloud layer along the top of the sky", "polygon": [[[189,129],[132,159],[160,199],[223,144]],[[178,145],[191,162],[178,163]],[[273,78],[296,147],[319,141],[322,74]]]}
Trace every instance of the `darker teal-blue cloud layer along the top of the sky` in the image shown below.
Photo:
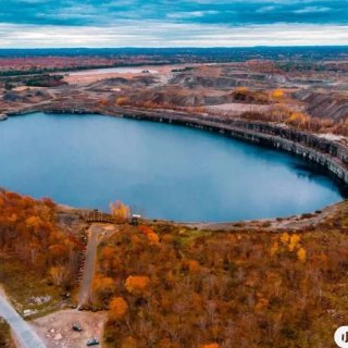
{"label": "darker teal-blue cloud layer along the top of the sky", "polygon": [[348,24],[347,0],[0,0],[0,23],[109,25],[120,20],[251,25]]}

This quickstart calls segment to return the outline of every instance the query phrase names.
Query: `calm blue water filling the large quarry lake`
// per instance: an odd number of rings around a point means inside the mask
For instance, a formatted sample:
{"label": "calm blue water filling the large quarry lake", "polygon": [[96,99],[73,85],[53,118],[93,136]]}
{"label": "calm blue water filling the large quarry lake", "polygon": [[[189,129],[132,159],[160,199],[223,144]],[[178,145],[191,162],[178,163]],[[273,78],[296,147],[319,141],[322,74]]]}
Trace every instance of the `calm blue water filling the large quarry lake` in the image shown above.
{"label": "calm blue water filling the large quarry lake", "polygon": [[0,186],[74,207],[121,199],[149,217],[236,221],[312,212],[336,184],[299,158],[219,135],[99,115],[0,123]]}

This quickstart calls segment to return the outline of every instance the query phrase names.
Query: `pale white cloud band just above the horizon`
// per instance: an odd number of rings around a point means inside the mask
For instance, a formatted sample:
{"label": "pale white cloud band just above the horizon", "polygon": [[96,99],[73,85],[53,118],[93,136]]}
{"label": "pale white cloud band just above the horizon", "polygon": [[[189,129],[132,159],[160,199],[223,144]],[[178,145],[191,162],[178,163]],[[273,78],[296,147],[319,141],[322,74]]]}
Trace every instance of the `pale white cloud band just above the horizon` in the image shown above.
{"label": "pale white cloud band just above the horizon", "polygon": [[348,45],[348,26],[251,25],[122,21],[112,26],[0,24],[2,48],[52,47],[248,47]]}

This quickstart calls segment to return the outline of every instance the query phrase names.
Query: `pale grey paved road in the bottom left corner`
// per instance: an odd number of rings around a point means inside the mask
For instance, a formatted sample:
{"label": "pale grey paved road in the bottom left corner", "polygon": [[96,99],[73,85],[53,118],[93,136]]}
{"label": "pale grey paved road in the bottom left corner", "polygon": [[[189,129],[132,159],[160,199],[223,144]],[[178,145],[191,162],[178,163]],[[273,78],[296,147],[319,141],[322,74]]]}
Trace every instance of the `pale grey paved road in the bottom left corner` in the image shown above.
{"label": "pale grey paved road in the bottom left corner", "polygon": [[14,308],[1,293],[0,316],[2,316],[11,326],[18,344],[21,345],[21,348],[46,348],[46,345],[41,338],[39,338],[32,326],[14,310]]}

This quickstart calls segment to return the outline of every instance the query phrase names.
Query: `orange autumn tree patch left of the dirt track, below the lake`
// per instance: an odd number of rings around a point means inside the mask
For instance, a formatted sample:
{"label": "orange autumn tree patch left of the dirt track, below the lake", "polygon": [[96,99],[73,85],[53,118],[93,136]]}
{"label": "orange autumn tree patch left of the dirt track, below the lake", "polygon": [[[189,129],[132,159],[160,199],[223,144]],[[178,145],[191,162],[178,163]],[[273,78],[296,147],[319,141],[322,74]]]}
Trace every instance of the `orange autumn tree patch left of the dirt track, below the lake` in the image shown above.
{"label": "orange autumn tree patch left of the dirt track, below the lake", "polygon": [[62,286],[76,275],[80,246],[59,225],[55,211],[50,199],[0,189],[0,251]]}

